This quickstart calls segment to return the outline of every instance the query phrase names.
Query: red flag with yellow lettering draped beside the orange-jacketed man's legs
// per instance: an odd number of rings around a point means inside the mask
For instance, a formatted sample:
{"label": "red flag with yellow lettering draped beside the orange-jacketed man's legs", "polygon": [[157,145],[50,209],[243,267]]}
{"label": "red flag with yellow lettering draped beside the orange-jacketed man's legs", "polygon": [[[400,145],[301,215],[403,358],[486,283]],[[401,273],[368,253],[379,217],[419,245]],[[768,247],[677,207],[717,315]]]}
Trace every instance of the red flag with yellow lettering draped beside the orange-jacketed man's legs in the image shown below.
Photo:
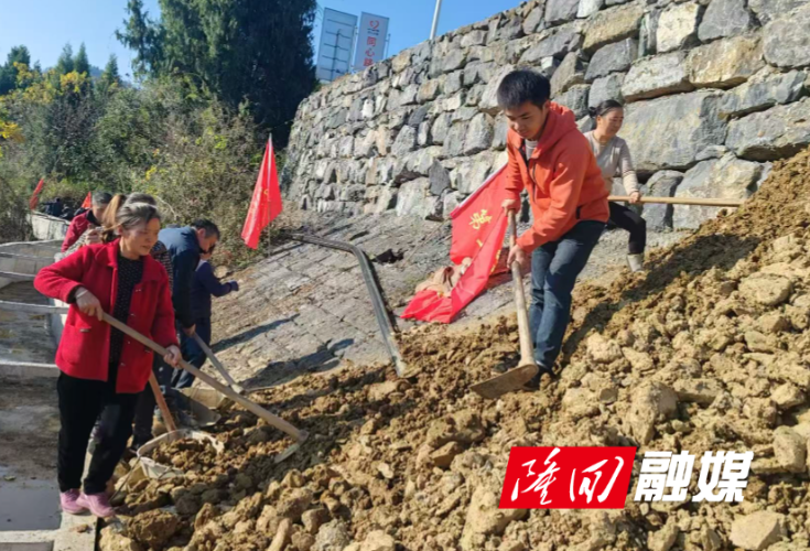
{"label": "red flag with yellow lettering draped beside the orange-jacketed man's legs", "polygon": [[402,312],[403,318],[450,323],[486,288],[497,267],[508,225],[500,207],[508,198],[505,177],[506,170],[501,168],[450,214],[453,219],[451,260],[460,264],[465,258],[473,259],[450,295],[421,291]]}

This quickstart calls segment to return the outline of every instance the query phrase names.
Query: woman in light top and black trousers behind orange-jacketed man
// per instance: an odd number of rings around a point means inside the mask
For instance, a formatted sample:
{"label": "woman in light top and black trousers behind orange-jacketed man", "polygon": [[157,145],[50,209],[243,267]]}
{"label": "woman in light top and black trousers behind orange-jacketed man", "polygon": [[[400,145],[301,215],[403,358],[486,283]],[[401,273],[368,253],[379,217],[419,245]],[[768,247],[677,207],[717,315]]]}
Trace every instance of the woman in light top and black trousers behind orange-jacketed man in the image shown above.
{"label": "woman in light top and black trousers behind orange-jacketed man", "polygon": [[[602,177],[608,192],[613,188],[614,176],[620,176],[625,192],[630,196],[630,204],[641,199],[636,170],[633,168],[633,158],[627,142],[618,137],[624,122],[625,110],[622,104],[607,99],[596,107],[592,107],[591,118],[596,128],[585,133],[596,163],[602,169]],[[609,202],[611,222],[630,233],[628,242],[627,263],[630,271],[637,272],[644,268],[644,249],[647,247],[647,223],[635,210],[619,203]]]}

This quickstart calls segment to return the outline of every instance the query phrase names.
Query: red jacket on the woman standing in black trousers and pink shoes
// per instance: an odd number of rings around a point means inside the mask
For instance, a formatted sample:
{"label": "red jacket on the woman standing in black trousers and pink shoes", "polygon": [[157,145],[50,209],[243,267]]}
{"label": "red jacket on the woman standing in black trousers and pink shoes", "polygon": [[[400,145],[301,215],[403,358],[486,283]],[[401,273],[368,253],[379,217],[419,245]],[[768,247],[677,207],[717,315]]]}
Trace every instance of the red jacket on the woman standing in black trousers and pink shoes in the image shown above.
{"label": "red jacket on the woman standing in black trousers and pink shoes", "polygon": [[[82,285],[90,291],[108,314],[112,313],[118,287],[118,244],[90,245],[74,255],[43,268],[34,287],[45,296],[67,302],[71,292]],[[174,309],[165,269],[143,257],[143,277],[132,291],[127,325],[163,347],[177,344]],[[71,304],[62,333],[56,365],[65,374],[79,379],[107,380],[110,354],[110,326],[83,314]],[[118,365],[118,393],[142,391],[152,372],[152,352],[125,335]]]}

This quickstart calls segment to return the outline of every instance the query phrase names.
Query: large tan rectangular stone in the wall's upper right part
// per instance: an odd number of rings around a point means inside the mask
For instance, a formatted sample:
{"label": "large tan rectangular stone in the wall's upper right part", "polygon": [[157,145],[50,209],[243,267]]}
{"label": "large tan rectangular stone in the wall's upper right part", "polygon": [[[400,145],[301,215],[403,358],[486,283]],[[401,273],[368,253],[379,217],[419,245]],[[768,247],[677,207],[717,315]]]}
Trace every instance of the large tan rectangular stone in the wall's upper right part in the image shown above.
{"label": "large tan rectangular stone in the wall's upper right part", "polygon": [[765,66],[759,36],[735,36],[695,47],[687,57],[689,80],[698,88],[731,88]]}

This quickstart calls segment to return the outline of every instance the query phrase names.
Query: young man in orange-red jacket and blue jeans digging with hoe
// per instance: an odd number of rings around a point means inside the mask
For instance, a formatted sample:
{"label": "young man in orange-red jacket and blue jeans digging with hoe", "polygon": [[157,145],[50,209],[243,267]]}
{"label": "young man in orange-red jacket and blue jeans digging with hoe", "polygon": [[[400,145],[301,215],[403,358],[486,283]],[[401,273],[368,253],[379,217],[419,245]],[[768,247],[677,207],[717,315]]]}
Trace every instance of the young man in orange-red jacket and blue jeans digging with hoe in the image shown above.
{"label": "young man in orange-red jacket and blue jeans digging with hoe", "polygon": [[540,376],[553,375],[571,315],[576,277],[608,218],[602,171],[571,110],[549,101],[549,80],[532,71],[515,71],[498,87],[507,119],[507,190],[505,208],[518,209],[520,192],[529,194],[532,227],[509,250],[528,267],[531,255],[531,333]]}

